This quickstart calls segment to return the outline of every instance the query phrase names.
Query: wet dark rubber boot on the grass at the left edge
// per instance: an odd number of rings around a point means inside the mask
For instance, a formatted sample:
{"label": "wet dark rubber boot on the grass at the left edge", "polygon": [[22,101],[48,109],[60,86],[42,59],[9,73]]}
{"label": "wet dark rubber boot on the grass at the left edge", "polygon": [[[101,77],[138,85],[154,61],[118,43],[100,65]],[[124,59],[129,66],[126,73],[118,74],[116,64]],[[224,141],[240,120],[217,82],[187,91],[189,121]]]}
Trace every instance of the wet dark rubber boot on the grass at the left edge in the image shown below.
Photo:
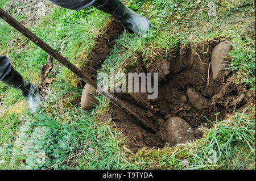
{"label": "wet dark rubber boot on the grass at the left edge", "polygon": [[6,85],[18,89],[28,103],[28,108],[32,112],[35,112],[40,107],[40,103],[43,102],[43,97],[39,94],[38,87],[33,83],[28,81],[24,81],[22,75],[18,73],[13,67],[11,67],[11,71],[7,74],[2,82]]}

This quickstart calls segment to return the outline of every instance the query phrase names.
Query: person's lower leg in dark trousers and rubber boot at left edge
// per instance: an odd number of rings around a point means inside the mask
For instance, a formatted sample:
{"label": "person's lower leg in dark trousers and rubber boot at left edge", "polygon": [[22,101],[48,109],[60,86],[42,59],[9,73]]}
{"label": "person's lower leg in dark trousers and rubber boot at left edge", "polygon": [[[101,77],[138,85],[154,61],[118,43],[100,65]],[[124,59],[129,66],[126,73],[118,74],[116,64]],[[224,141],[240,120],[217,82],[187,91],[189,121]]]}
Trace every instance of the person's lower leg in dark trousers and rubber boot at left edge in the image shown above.
{"label": "person's lower leg in dark trousers and rubber boot at left edge", "polygon": [[6,56],[0,56],[0,81],[6,85],[18,89],[28,103],[28,108],[35,112],[43,101],[39,94],[38,87],[33,83],[24,81],[22,75],[11,66],[10,60]]}

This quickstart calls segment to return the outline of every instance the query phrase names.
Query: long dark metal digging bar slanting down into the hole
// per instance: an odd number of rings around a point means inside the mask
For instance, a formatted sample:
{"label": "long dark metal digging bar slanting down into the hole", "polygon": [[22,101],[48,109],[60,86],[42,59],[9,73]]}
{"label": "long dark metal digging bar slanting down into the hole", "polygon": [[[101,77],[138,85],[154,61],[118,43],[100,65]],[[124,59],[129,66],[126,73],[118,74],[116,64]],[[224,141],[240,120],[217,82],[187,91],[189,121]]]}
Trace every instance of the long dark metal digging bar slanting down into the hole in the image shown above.
{"label": "long dark metal digging bar slanting down into the hole", "polygon": [[[30,30],[24,27],[21,23],[19,23],[17,20],[15,20],[11,15],[9,15],[6,11],[2,10],[1,8],[0,8],[0,17],[3,20],[5,20],[5,22],[9,23],[12,27],[14,27],[16,30],[18,30],[20,33],[22,33],[24,36],[26,36],[28,39],[33,41],[40,48],[45,50],[48,54],[50,54],[53,58],[55,58],[65,67],[67,67],[73,73],[75,73],[83,81],[85,81],[90,86],[92,86],[93,89],[97,90],[97,83],[94,82],[88,75],[86,75],[80,69],[76,68],[75,65],[71,64],[71,62],[69,62],[65,57],[61,56],[60,53],[56,52],[56,50],[49,47],[49,45],[44,43],[43,40],[39,39],[39,37],[37,37],[34,33],[32,33]],[[156,129],[150,123],[142,119],[139,115],[137,115],[137,113],[135,113],[134,111],[131,111],[128,107],[126,107],[124,104],[119,102],[108,91],[103,90],[101,86],[98,86],[98,89],[99,87],[100,87],[100,91],[102,92],[101,94],[104,95],[107,99],[109,99],[110,102],[112,102],[115,106],[122,108],[122,110],[127,112],[128,115],[132,116],[140,125],[146,128],[149,132],[156,133]]]}

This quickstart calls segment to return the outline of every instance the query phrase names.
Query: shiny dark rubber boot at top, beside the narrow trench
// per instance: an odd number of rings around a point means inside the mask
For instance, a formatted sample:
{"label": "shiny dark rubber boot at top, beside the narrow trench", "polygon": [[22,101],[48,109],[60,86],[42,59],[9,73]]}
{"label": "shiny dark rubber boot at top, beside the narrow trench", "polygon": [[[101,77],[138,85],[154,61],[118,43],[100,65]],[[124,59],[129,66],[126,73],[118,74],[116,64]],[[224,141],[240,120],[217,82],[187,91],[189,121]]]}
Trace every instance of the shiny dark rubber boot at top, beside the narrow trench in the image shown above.
{"label": "shiny dark rubber boot at top, beside the narrow trench", "polygon": [[144,35],[150,30],[149,20],[142,15],[129,9],[119,0],[98,0],[92,5],[98,10],[114,15],[125,26],[130,28],[137,35]]}

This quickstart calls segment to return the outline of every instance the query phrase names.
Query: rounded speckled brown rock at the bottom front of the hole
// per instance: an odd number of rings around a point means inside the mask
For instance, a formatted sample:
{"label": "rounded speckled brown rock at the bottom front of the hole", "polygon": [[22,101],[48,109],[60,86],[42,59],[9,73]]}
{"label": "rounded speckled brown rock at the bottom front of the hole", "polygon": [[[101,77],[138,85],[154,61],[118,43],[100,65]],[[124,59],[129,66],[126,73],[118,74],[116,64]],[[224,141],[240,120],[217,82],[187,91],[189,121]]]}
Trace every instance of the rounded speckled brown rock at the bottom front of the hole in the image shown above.
{"label": "rounded speckled brown rock at the bottom front of the hole", "polygon": [[171,144],[185,144],[195,140],[191,125],[181,117],[170,117],[166,121],[167,138]]}

